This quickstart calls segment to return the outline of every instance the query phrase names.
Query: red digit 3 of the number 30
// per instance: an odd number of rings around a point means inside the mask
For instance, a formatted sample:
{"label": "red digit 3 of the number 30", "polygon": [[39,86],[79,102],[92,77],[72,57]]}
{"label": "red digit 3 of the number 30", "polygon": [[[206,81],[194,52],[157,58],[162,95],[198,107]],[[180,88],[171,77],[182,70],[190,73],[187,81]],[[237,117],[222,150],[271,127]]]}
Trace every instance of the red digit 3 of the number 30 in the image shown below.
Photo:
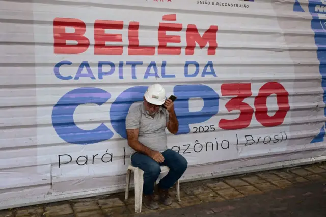
{"label": "red digit 3 of the number 30", "polygon": [[240,110],[238,118],[233,120],[221,119],[219,127],[225,130],[243,129],[250,125],[254,114],[253,108],[243,102],[244,99],[252,95],[251,84],[223,84],[221,86],[222,96],[236,96],[225,104],[226,109],[231,112],[233,110]]}

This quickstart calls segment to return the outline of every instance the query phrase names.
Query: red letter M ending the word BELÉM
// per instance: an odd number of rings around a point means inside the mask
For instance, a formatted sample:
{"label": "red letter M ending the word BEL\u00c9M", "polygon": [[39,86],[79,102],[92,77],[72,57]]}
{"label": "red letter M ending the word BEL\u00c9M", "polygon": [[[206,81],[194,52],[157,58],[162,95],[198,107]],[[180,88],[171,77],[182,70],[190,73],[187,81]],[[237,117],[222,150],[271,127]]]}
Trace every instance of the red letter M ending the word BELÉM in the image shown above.
{"label": "red letter M ending the word BEL\u00c9M", "polygon": [[218,32],[218,26],[211,25],[208,30],[200,36],[196,25],[188,25],[186,30],[187,46],[185,48],[186,55],[194,55],[196,42],[199,44],[200,49],[203,49],[207,43],[209,47],[207,50],[208,55],[215,55],[216,48],[218,48],[218,42],[216,40],[216,33]]}

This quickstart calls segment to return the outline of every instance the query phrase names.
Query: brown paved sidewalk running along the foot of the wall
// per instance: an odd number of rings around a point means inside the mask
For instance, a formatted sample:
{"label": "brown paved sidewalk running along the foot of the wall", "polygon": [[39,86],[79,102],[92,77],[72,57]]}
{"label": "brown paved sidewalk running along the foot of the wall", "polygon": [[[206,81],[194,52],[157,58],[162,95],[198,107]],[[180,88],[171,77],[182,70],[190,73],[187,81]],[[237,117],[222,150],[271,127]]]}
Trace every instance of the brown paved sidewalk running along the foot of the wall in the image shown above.
{"label": "brown paved sidewalk running along the foot of the wall", "polygon": [[[134,213],[124,193],[0,211],[0,217],[326,216],[326,164],[181,184],[181,202]],[[170,191],[175,197],[175,190]]]}

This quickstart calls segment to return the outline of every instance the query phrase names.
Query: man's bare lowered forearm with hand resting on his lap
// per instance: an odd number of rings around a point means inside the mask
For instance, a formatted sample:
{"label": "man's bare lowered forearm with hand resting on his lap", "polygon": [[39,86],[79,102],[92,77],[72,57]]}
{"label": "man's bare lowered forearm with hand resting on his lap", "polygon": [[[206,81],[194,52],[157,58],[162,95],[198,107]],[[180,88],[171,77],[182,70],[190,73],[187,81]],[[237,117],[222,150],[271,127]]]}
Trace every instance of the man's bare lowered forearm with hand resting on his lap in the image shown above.
{"label": "man's bare lowered forearm with hand resting on his lap", "polygon": [[139,129],[127,129],[128,145],[133,150],[151,157],[156,162],[164,162],[164,157],[161,153],[158,151],[153,151],[138,141],[138,133]]}

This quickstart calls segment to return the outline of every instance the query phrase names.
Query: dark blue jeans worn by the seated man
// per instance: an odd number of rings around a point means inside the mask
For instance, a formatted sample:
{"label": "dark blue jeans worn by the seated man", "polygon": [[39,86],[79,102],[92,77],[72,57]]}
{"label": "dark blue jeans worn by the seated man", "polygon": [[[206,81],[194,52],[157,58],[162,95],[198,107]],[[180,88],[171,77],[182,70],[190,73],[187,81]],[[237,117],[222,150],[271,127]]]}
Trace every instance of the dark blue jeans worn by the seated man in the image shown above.
{"label": "dark blue jeans worn by the seated man", "polygon": [[170,168],[169,173],[159,181],[158,187],[160,189],[169,189],[172,187],[187,169],[187,160],[178,152],[168,149],[162,155],[164,162],[161,164],[141,153],[135,153],[131,156],[132,166],[144,171],[144,195],[153,194],[154,183],[161,173],[160,166],[168,166]]}

